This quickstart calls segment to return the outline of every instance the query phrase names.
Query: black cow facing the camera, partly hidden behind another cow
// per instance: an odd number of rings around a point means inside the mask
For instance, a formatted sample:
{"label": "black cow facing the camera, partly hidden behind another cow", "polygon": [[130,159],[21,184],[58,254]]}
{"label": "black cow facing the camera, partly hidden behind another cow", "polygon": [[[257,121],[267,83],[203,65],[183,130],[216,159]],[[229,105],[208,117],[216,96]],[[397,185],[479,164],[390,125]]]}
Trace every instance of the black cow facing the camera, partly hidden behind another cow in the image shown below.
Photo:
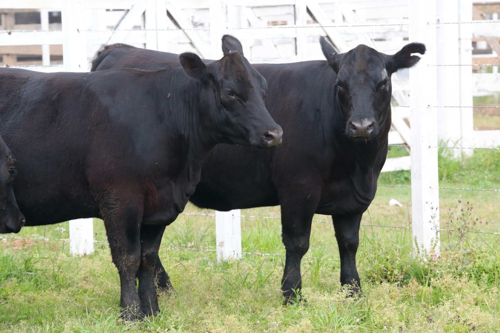
{"label": "black cow facing the camera, partly hidden behind another cow", "polygon": [[[375,196],[387,153],[391,74],[419,60],[411,53],[425,52],[421,43],[393,55],[366,45],[338,54],[323,37],[320,44],[326,61],[253,64],[267,80],[266,107],[283,127],[284,142],[266,151],[217,146],[190,198],[220,211],[281,205],[285,302],[294,296],[292,289],[301,288],[300,260],[309,248],[314,213],[332,216],[340,282],[359,288],[359,222]],[[162,68],[176,56],[115,44],[101,50],[91,70]],[[169,288],[159,259],[156,270],[160,287]]]}

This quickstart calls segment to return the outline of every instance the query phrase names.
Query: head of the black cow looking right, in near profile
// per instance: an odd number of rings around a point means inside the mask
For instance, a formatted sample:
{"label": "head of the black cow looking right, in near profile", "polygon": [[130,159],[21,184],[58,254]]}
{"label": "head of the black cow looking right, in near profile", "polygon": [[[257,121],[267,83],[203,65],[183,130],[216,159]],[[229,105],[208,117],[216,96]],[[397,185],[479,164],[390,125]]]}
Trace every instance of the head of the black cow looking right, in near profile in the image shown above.
{"label": "head of the black cow looking right, in near profile", "polygon": [[202,84],[203,122],[214,128],[219,142],[266,148],[281,143],[281,127],[264,105],[267,83],[243,56],[236,38],[222,37],[224,56],[203,63],[194,53],[182,53],[185,72]]}

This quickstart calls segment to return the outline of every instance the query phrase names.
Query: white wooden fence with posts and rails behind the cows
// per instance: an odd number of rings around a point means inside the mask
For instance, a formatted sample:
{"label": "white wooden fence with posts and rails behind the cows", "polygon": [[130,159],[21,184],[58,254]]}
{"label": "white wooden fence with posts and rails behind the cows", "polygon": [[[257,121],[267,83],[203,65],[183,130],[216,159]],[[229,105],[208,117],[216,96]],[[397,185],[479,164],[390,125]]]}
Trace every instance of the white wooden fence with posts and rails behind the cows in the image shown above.
{"label": "white wooden fence with posts and rails behind the cows", "polygon": [[[276,14],[278,7],[284,9]],[[0,30],[0,47],[42,45],[43,66],[28,68],[40,71],[87,71],[95,50],[114,42],[219,58],[224,33],[242,41],[252,62],[322,59],[319,35],[328,36],[339,51],[364,43],[393,53],[406,37],[425,43],[427,52],[410,70],[410,79],[404,73],[393,77],[399,105],[392,110],[389,144],[411,148],[411,157],[388,159],[382,170],[407,170],[411,160],[412,230],[419,251],[439,254],[438,138],[456,142],[448,148],[462,153],[500,145],[500,131],[473,131],[471,108],[473,91],[500,90],[498,75],[487,74],[484,85],[485,74],[472,74],[471,38],[476,33],[496,37],[500,24],[473,21],[470,0],[0,0],[0,8],[40,10],[41,30]],[[108,28],[100,18],[113,8],[123,14]],[[49,10],[62,11],[61,30],[48,28]],[[277,25],[265,25],[264,18]],[[197,26],[203,19],[207,24]],[[63,66],[48,65],[50,44],[63,45]],[[219,259],[243,253],[239,217],[239,210],[215,214]],[[71,253],[93,252],[91,219],[70,221],[69,234]]]}

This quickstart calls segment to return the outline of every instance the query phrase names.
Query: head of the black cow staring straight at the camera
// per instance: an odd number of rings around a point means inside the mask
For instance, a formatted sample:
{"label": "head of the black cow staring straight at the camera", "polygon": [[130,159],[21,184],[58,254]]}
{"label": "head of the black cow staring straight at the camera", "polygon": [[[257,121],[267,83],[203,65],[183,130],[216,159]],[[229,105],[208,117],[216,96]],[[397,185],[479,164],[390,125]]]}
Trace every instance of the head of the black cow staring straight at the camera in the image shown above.
{"label": "head of the black cow staring straight at the camera", "polygon": [[409,43],[397,53],[387,55],[362,44],[348,52],[336,53],[324,37],[320,37],[319,43],[337,73],[335,91],[346,121],[345,133],[363,140],[376,138],[390,113],[392,73],[416,64],[420,57],[411,53],[425,53],[425,45]]}

